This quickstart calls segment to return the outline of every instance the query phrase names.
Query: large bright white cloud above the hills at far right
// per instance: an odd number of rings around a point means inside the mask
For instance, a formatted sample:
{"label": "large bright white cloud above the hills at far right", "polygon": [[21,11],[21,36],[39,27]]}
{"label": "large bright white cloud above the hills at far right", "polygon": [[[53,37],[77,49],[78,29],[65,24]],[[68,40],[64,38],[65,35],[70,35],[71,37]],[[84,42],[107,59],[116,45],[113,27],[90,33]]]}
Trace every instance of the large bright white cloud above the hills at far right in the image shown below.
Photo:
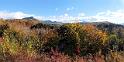
{"label": "large bright white cloud above the hills at far right", "polygon": [[106,11],[106,12],[99,12],[96,16],[98,22],[101,21],[109,21],[112,23],[124,23],[124,10],[117,10],[117,11]]}

